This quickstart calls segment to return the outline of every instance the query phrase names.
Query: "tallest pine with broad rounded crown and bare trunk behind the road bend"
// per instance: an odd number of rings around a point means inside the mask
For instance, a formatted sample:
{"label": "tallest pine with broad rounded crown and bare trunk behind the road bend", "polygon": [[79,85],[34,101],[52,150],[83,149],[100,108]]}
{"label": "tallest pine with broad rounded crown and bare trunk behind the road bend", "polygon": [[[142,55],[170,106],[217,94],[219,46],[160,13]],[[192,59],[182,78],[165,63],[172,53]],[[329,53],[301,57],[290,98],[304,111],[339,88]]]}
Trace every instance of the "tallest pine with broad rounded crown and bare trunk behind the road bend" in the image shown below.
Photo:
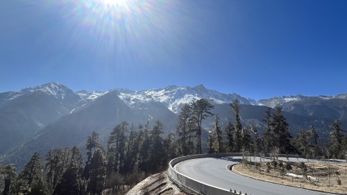
{"label": "tallest pine with broad rounded crown and bare trunk behind the road bend", "polygon": [[192,104],[192,119],[196,123],[196,138],[197,144],[196,148],[198,149],[198,153],[202,153],[201,149],[201,133],[202,133],[202,121],[207,117],[211,117],[213,114],[211,112],[214,109],[214,105],[208,102],[208,99],[199,99],[197,101],[193,101]]}

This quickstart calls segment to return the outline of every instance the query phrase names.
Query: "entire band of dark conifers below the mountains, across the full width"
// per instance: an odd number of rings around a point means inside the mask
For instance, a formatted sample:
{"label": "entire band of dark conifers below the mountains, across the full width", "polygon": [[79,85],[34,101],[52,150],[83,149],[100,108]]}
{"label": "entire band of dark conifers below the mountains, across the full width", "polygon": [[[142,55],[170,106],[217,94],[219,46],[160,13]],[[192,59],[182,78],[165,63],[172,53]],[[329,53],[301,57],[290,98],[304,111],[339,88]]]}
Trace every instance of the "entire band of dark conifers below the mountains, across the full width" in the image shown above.
{"label": "entire band of dark conifers below the mountains, across the full width", "polygon": [[[319,146],[319,136],[312,126],[292,137],[289,124],[281,108],[270,108],[264,113],[264,133],[259,135],[251,124],[244,126],[240,117],[242,105],[230,103],[230,115],[235,120],[221,127],[219,116],[212,113],[214,106],[208,99],[186,104],[178,115],[176,132],[164,137],[164,124],[140,124],[135,128],[127,121],[117,124],[103,146],[99,134],[93,132],[83,151],[51,149],[44,157],[34,153],[24,169],[17,173],[13,164],[0,164],[1,194],[102,194],[105,189],[121,193],[126,185],[167,169],[172,158],[199,153],[287,153],[325,155],[327,158],[346,158],[347,136],[341,121],[331,124],[330,141]],[[203,120],[214,117],[203,151]],[[83,160],[85,159],[85,160]],[[44,160],[44,161],[42,161]]]}

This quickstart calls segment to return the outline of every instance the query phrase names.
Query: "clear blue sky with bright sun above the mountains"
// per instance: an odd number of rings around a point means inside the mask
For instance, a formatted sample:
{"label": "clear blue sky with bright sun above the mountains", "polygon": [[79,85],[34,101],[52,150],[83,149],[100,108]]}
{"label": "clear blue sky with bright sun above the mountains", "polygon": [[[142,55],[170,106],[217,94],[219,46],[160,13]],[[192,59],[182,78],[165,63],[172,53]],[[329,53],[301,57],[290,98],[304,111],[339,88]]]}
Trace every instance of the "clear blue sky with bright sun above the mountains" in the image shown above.
{"label": "clear blue sky with bright sun above the mountains", "polygon": [[347,93],[347,1],[0,0],[0,92]]}

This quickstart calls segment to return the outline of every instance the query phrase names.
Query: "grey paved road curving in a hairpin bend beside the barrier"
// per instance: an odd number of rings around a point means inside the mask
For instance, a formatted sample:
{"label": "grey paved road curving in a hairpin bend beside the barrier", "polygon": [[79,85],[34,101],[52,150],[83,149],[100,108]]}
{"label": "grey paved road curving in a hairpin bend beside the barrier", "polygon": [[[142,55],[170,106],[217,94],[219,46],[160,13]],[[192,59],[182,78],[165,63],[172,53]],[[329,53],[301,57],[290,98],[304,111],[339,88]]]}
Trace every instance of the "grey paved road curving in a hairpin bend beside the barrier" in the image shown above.
{"label": "grey paved road curving in a hairpin bend beside the barrier", "polygon": [[[252,158],[253,160],[253,158]],[[280,160],[287,160],[282,158]],[[289,158],[291,161],[304,161],[304,159]],[[176,171],[183,173],[198,180],[201,183],[220,187],[242,194],[248,195],[288,195],[288,194],[305,194],[305,195],[319,195],[329,194],[323,192],[314,192],[307,189],[297,187],[288,187],[285,185],[277,185],[273,183],[266,183],[260,180],[239,176],[236,173],[228,171],[226,167],[230,164],[237,164],[242,161],[242,157],[228,157],[228,158],[197,158],[192,160],[185,160],[175,165]],[[254,160],[253,160],[254,161]],[[260,160],[257,159],[257,162]]]}

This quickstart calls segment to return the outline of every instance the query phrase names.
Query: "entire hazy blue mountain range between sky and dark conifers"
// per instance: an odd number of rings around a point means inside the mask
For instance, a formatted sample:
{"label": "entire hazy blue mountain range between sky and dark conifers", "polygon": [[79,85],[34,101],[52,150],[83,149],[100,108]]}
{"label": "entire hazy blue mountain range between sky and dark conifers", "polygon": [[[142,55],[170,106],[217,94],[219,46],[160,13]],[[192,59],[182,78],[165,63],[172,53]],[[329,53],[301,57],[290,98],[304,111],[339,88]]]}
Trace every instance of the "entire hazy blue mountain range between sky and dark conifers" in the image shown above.
{"label": "entire hazy blue mountain range between sky and dark conifers", "polygon": [[[107,92],[74,92],[59,83],[47,83],[15,92],[0,93],[0,162],[22,167],[35,151],[44,155],[58,147],[84,147],[92,131],[107,141],[112,128],[128,121],[137,129],[139,124],[154,124],[160,120],[165,133],[175,131],[180,109],[185,103],[205,98],[215,108],[221,126],[234,121],[230,105],[235,99],[242,103],[244,126],[253,124],[264,130],[268,107],[283,108],[289,130],[296,135],[314,126],[326,141],[335,119],[347,121],[347,94],[337,96],[279,96],[271,99],[245,98],[239,94],[223,94],[203,85],[133,91],[115,89]],[[205,135],[213,128],[213,119],[204,121]]]}

